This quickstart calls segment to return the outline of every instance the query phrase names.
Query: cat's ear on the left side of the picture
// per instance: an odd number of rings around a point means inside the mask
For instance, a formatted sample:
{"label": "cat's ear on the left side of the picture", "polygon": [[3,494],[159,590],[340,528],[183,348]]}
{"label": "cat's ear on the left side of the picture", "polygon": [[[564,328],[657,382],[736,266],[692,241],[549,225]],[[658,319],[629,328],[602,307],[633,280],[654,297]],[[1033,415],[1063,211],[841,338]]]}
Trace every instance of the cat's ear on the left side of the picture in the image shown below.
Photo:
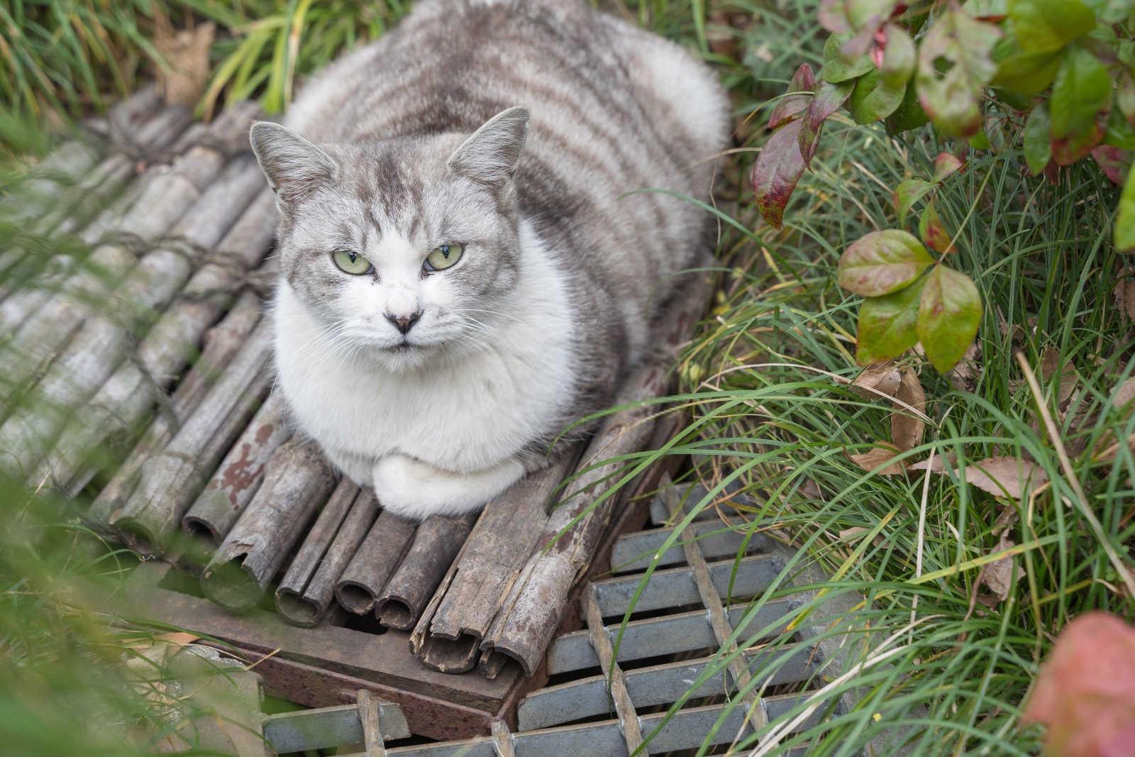
{"label": "cat's ear on the left side of the picture", "polygon": [[316,144],[279,124],[257,121],[249,141],[281,211],[295,208],[320,185],[330,182],[338,168]]}

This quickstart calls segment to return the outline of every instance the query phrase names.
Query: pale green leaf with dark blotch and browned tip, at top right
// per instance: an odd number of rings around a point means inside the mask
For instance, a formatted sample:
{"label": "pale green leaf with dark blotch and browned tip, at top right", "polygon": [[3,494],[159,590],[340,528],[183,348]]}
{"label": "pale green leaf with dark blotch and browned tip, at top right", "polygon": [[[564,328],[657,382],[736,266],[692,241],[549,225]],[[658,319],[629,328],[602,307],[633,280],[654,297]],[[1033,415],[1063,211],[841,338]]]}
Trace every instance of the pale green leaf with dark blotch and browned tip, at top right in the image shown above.
{"label": "pale green leaf with dark blotch and browned tip, at top right", "polygon": [[970,136],[981,127],[981,100],[997,73],[991,53],[1001,30],[948,10],[918,49],[918,100],[947,136]]}

